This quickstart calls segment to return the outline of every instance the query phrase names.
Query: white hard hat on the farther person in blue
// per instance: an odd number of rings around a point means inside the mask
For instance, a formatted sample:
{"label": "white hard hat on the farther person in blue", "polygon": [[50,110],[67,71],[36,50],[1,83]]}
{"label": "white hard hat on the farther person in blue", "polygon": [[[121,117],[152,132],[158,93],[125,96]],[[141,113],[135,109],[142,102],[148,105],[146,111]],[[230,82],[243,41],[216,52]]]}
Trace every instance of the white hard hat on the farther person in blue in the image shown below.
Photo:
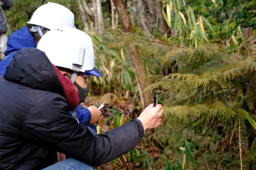
{"label": "white hard hat on the farther person in blue", "polygon": [[59,26],[75,28],[74,14],[65,6],[52,2],[38,7],[27,23],[47,29]]}

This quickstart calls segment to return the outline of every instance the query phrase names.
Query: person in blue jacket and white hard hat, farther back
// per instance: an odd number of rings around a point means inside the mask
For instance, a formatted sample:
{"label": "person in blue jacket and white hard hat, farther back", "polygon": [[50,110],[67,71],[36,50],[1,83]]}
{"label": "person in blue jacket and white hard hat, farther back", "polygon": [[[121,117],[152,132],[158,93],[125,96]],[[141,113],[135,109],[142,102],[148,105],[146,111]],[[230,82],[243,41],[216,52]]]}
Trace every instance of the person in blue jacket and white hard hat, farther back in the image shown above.
{"label": "person in blue jacket and white hard hat, farther back", "polygon": [[[0,62],[0,75],[4,74],[6,67],[18,50],[27,47],[36,47],[38,41],[47,31],[60,26],[75,28],[74,14],[65,6],[52,2],[38,7],[27,23],[32,25],[32,33],[25,26],[9,36],[5,51],[7,57]],[[70,112],[70,115],[75,115],[81,124],[89,126],[91,132],[96,134],[95,123],[101,115],[101,112],[96,106],[90,106],[85,109],[79,105],[73,114]]]}

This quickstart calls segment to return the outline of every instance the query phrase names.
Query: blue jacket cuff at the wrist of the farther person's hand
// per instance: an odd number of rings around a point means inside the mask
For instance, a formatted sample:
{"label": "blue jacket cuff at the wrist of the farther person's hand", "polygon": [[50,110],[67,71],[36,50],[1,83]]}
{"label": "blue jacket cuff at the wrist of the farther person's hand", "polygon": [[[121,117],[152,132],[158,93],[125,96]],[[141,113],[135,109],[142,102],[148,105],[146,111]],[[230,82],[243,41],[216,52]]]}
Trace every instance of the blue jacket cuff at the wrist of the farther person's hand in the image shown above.
{"label": "blue jacket cuff at the wrist of the farther person's hand", "polygon": [[[78,105],[78,107],[75,108],[75,111],[76,116],[79,120],[79,124],[89,124],[89,122],[91,121],[91,112],[88,109],[82,107],[81,105]],[[71,112],[69,112],[69,114],[70,116],[72,116]]]}

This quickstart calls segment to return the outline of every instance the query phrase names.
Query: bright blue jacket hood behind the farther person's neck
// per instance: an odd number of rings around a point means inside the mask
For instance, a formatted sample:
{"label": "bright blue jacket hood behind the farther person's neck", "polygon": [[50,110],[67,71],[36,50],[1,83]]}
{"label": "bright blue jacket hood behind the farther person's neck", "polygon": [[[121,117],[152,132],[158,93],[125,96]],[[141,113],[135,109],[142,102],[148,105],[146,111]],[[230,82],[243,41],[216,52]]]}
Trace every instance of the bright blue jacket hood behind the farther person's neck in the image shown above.
{"label": "bright blue jacket hood behind the farther person's neck", "polygon": [[12,33],[7,40],[7,49],[4,54],[7,56],[13,51],[24,49],[27,47],[36,48],[37,44],[27,26]]}

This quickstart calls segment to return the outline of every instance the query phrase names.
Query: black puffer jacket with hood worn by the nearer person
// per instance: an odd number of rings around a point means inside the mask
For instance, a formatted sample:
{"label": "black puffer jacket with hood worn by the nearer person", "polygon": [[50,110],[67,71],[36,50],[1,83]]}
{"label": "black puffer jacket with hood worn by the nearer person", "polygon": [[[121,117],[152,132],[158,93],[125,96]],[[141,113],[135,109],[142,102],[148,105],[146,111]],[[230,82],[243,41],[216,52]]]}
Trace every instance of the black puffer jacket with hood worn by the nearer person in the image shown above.
{"label": "black puffer jacket with hood worn by the nearer person", "polygon": [[18,51],[0,76],[0,169],[36,170],[62,152],[92,166],[135,147],[143,135],[138,120],[92,135],[70,117],[57,74],[44,52]]}

